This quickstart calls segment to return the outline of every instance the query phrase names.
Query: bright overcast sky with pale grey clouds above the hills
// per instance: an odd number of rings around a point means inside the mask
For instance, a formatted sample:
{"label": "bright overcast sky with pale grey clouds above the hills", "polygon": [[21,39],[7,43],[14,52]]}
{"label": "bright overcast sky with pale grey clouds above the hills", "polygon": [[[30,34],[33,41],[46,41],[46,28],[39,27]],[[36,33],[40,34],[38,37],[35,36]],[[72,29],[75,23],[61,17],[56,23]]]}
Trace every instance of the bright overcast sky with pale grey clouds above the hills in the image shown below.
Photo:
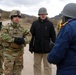
{"label": "bright overcast sky with pale grey clouds above the hills", "polygon": [[76,3],[76,0],[0,0],[0,9],[6,11],[17,9],[21,13],[38,16],[39,8],[45,7],[48,17],[54,17],[67,3]]}

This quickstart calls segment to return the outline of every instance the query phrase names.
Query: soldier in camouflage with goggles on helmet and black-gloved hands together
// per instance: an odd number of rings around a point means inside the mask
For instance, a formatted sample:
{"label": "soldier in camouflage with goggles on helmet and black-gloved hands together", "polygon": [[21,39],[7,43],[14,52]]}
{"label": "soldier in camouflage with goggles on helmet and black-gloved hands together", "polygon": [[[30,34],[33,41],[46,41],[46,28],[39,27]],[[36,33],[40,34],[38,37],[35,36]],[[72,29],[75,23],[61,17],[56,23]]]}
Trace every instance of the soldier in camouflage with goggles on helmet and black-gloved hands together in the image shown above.
{"label": "soldier in camouflage with goggles on helmet and black-gloved hands together", "polygon": [[4,74],[21,75],[25,38],[28,32],[19,24],[20,11],[12,10],[10,18],[11,23],[3,27],[0,34],[1,44],[4,48]]}

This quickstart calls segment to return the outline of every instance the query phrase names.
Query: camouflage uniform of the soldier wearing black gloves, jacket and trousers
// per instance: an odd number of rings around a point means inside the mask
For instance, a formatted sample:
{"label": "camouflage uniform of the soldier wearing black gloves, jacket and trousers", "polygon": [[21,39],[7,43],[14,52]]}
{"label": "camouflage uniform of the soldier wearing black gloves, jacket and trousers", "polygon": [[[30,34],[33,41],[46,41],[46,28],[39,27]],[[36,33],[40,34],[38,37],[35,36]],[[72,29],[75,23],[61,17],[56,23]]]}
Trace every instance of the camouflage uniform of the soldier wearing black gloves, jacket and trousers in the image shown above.
{"label": "camouflage uniform of the soldier wearing black gloves, jacket and trousers", "polygon": [[19,24],[10,23],[2,29],[0,34],[3,46],[4,73],[5,75],[21,75],[23,69],[23,53],[26,44],[17,45],[13,37],[23,37],[27,33]]}

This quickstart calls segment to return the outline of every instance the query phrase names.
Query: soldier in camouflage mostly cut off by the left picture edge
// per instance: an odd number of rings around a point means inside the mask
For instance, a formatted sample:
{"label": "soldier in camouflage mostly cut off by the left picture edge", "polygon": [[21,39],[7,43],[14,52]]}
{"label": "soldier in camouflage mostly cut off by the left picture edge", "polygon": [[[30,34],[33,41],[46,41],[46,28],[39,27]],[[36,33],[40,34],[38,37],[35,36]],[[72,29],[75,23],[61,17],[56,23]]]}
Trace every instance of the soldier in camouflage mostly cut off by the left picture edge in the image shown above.
{"label": "soldier in camouflage mostly cut off by the left picture edge", "polygon": [[[2,28],[2,10],[0,9],[0,32]],[[3,74],[3,47],[0,42],[0,75]]]}

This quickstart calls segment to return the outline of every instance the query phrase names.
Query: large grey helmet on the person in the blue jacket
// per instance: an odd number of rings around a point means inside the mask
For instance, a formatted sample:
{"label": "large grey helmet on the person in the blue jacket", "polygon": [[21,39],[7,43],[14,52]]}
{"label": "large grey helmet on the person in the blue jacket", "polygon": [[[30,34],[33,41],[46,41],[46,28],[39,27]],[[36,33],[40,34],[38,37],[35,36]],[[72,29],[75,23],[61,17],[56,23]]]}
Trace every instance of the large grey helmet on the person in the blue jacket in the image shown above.
{"label": "large grey helmet on the person in the blue jacket", "polygon": [[76,18],[75,8],[76,8],[76,3],[69,3],[63,8],[61,14],[66,17]]}

